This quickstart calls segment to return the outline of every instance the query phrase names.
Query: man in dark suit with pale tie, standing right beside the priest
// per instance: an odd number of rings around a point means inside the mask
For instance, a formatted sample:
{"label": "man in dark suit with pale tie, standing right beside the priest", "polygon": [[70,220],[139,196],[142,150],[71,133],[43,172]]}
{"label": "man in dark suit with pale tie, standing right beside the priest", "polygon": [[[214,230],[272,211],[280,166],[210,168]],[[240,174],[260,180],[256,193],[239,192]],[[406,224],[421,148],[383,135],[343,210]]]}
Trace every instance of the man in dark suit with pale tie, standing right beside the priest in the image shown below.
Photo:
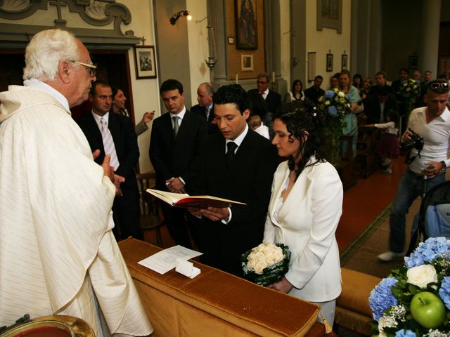
{"label": "man in dark suit with pale tie, standing right beside the priest", "polygon": [[[79,118],[77,123],[86,135],[91,150],[100,150],[96,163],[101,164],[105,154],[110,154],[110,164],[114,166],[115,174],[125,178],[120,184],[122,196],[115,197],[113,204],[113,212],[119,220],[120,234],[122,237],[143,239],[139,225],[139,190],[134,171],[139,160],[134,126],[129,117],[110,112],[113,91],[109,84],[94,82],[89,100],[92,103],[91,114]],[[111,136],[113,141],[108,142]],[[115,235],[118,234],[115,229]]]}

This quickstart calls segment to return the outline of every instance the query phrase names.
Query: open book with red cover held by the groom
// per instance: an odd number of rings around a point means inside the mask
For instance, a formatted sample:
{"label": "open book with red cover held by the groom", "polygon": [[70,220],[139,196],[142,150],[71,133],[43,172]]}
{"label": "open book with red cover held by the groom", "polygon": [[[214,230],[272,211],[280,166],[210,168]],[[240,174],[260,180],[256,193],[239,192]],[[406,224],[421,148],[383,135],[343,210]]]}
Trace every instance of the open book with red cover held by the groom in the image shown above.
{"label": "open book with red cover held by the groom", "polygon": [[167,202],[167,204],[182,208],[195,207],[197,209],[206,209],[207,207],[217,207],[221,209],[224,207],[231,207],[232,204],[245,205],[243,202],[211,197],[210,195],[190,196],[189,194],[165,192],[153,190],[151,188],[148,188],[147,192],[154,195],[158,199]]}

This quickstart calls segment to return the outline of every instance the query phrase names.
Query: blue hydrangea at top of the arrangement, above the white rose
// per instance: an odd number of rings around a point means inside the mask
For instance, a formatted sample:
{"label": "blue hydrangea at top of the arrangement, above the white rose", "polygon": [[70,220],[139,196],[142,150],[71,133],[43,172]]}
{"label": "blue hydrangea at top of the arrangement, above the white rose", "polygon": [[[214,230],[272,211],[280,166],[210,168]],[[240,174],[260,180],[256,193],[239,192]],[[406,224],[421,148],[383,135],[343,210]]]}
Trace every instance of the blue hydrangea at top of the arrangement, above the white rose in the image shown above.
{"label": "blue hydrangea at top of the arrangement, above the white rose", "polygon": [[430,237],[419,244],[411,255],[405,258],[406,267],[417,267],[425,262],[431,263],[450,251],[450,241],[445,237]]}

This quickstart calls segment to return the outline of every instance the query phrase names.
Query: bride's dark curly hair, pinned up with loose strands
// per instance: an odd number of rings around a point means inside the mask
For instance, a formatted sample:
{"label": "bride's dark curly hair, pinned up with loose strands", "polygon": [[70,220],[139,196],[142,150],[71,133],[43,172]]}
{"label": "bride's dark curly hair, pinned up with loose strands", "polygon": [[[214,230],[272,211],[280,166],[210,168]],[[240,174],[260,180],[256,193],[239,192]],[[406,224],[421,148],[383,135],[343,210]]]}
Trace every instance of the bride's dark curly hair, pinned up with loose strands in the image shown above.
{"label": "bride's dark curly hair, pinned up with loose strands", "polygon": [[[282,105],[274,119],[279,119],[285,124],[290,142],[294,141],[294,137],[300,141],[298,152],[288,158],[289,169],[295,171],[296,178],[300,176],[305,167],[326,160],[323,114],[311,100],[305,98]],[[304,140],[305,136],[306,141]],[[302,158],[295,167],[295,159],[299,156]],[[309,159],[312,159],[310,163],[308,163]]]}

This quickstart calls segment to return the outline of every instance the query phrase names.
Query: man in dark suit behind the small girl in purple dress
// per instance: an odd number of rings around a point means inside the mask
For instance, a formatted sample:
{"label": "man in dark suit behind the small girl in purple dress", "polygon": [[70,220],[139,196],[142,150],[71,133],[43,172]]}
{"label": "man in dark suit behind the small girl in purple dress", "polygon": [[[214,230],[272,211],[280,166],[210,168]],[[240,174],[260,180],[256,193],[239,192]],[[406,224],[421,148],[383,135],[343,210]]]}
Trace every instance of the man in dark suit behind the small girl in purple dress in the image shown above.
{"label": "man in dark suit behind the small girl in purple dress", "polygon": [[389,86],[381,86],[374,95],[366,99],[364,113],[367,124],[386,123],[385,116],[390,110],[399,111],[395,96],[390,93]]}

